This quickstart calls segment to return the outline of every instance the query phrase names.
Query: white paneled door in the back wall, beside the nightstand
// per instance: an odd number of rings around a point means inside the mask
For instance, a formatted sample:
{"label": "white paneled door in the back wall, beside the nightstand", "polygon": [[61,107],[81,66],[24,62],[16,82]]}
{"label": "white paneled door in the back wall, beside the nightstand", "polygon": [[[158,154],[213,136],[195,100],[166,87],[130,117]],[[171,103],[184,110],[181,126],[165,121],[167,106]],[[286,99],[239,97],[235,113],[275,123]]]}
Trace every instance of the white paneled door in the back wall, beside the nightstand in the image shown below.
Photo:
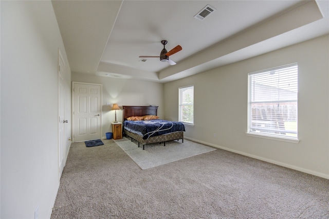
{"label": "white paneled door in the back wall, beside the nightstand", "polygon": [[73,82],[73,140],[101,138],[101,84]]}

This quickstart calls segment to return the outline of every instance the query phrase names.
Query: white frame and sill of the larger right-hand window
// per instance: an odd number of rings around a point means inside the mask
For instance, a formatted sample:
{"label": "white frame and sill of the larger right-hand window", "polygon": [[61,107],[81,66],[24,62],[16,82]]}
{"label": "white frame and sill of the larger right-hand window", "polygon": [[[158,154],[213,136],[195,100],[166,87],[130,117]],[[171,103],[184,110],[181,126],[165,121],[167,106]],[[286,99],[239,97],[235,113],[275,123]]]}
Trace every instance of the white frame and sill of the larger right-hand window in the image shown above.
{"label": "white frame and sill of the larger right-hand window", "polygon": [[[262,76],[262,75],[265,75],[267,72],[271,73],[272,71],[280,71],[282,69],[286,69],[289,67],[295,67],[295,66],[297,68],[297,72],[295,71],[295,73],[294,73],[294,74],[297,73],[297,76],[296,76],[297,90],[295,92],[296,99],[281,100],[279,98],[278,100],[275,101],[275,100],[271,100],[271,97],[268,97],[268,99],[265,99],[262,101],[259,101],[259,100],[255,101],[255,99],[253,99],[253,101],[252,101],[251,95],[255,96],[254,90],[253,90],[253,92],[251,90],[252,87],[253,87],[253,89],[255,89],[254,85],[251,85],[251,83],[254,80],[254,76],[256,76],[256,75]],[[279,76],[279,79],[281,79],[280,77],[282,78],[282,76]],[[280,85],[281,85],[281,83],[280,83]],[[277,89],[278,89],[278,92],[280,92],[279,87]],[[263,90],[263,92],[265,92],[265,90]],[[263,96],[263,93],[260,93],[260,94],[262,95],[262,97],[266,96],[266,95]],[[279,127],[276,127],[274,129],[261,127],[257,130],[257,129],[255,129],[255,126],[252,126],[251,123],[258,122],[257,120],[259,120],[258,118],[254,119],[254,114],[252,113],[252,104],[264,104],[265,105],[265,104],[271,104],[271,103],[288,103],[288,102],[295,102],[295,105],[296,105],[296,136],[286,135],[287,133],[290,132],[286,129],[284,129],[283,132],[279,132],[279,134],[276,133],[275,131],[278,132],[278,129],[280,131]],[[278,107],[279,107],[279,105],[278,105]],[[285,127],[285,125],[283,125],[283,126]],[[266,131],[268,131],[268,132],[266,132]],[[285,133],[285,134],[281,134],[281,133]],[[298,139],[298,63],[292,63],[292,64],[283,65],[283,66],[279,66],[279,67],[275,67],[275,68],[269,68],[269,69],[265,69],[265,70],[250,72],[248,74],[248,104],[247,104],[247,133],[246,134],[248,136],[261,137],[261,138],[267,138],[267,139],[281,140],[281,141],[294,142],[294,143],[299,142],[299,139]]]}

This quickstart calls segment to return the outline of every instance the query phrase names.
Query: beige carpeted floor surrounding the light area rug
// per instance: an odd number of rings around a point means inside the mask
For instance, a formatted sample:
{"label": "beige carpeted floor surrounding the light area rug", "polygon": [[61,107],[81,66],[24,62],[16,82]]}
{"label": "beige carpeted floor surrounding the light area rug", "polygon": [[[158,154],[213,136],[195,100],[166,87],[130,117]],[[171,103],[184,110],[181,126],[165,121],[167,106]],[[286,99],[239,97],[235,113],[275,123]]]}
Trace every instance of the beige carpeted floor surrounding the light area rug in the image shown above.
{"label": "beige carpeted floor surrounding the light area rug", "polygon": [[329,180],[215,150],[141,170],[112,140],[71,145],[51,218],[329,218]]}

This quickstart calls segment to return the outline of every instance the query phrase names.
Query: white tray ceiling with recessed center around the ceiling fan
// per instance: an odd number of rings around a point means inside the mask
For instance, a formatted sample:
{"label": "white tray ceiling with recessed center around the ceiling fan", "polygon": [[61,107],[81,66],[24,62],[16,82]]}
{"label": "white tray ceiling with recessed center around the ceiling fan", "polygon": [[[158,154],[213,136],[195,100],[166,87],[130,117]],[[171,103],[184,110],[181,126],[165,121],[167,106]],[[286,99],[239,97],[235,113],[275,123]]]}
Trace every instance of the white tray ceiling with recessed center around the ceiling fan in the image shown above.
{"label": "white tray ceiling with recessed center around the ceiling fan", "polygon": [[[203,21],[194,15],[216,9]],[[329,1],[52,1],[72,72],[168,82],[329,33]],[[159,58],[167,40],[170,66]]]}

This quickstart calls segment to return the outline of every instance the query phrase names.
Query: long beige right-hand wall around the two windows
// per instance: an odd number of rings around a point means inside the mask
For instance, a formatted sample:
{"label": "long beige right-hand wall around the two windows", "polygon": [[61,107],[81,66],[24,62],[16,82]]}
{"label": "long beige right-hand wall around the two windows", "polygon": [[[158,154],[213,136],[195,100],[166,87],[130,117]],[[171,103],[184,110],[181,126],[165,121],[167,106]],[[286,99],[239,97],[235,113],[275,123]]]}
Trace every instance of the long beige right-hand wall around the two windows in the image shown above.
{"label": "long beige right-hand wall around the two windows", "polygon": [[[178,119],[178,87],[194,85],[194,123],[186,137],[329,178],[329,36],[164,85],[167,119]],[[298,63],[300,142],[246,136],[249,72]],[[216,133],[216,137],[214,137]]]}

